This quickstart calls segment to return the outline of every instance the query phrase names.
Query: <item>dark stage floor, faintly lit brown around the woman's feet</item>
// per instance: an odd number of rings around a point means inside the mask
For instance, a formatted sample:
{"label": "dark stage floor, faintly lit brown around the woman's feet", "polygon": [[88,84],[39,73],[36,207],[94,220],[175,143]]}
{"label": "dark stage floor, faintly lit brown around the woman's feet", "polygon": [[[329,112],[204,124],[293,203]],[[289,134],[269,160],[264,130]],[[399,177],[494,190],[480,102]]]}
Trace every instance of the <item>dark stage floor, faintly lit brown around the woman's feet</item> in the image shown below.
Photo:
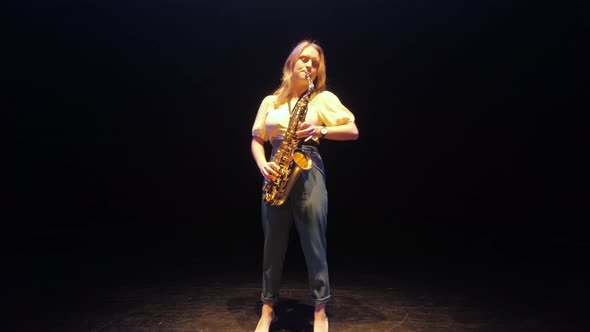
{"label": "dark stage floor, faintly lit brown around the woman's feet", "polygon": [[[254,331],[258,249],[227,248],[11,255],[2,330]],[[271,331],[313,331],[303,259],[298,248],[289,252]],[[587,331],[587,252],[571,252],[462,259],[332,252],[330,330]]]}

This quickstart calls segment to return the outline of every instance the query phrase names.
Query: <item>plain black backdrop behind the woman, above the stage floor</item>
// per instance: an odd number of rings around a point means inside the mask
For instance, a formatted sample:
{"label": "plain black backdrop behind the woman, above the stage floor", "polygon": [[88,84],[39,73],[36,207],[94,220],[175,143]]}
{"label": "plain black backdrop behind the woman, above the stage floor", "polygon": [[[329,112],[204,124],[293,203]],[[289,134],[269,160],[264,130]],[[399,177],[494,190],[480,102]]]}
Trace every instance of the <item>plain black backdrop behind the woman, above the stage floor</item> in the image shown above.
{"label": "plain black backdrop behind the woman, above the stage floor", "polygon": [[5,253],[257,264],[251,126],[303,38],[360,130],[322,145],[331,257],[585,250],[582,3],[4,5]]}

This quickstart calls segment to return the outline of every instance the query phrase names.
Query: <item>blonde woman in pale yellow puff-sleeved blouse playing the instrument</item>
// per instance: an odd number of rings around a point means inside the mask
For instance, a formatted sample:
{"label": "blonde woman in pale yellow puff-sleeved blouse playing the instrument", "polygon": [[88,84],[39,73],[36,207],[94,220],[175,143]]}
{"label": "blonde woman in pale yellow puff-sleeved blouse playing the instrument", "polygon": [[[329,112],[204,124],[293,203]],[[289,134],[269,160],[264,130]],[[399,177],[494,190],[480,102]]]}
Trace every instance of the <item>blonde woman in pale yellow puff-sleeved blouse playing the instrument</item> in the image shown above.
{"label": "blonde woman in pale yellow puff-sleeved blouse playing the instrument", "polygon": [[[309,84],[308,77],[313,85]],[[325,311],[325,305],[330,299],[326,257],[328,192],[319,142],[321,139],[355,140],[359,132],[354,115],[335,94],[326,90],[324,52],[317,43],[303,40],[287,57],[280,87],[272,95],[266,96],[258,109],[252,127],[251,150],[265,183],[277,179],[281,167],[275,163],[274,156],[280,151],[287,132],[290,112],[301,108],[302,104],[298,101],[302,96],[309,97],[309,100],[303,103],[306,116],[297,127],[296,138],[301,148],[309,154],[312,167],[299,173],[286,201],[280,205],[270,204],[268,199],[264,199],[263,190],[263,305],[256,332],[267,332],[274,317],[273,305],[279,297],[292,224],[295,224],[299,234],[315,304],[314,332],[328,331]],[[265,144],[272,148],[269,159]]]}

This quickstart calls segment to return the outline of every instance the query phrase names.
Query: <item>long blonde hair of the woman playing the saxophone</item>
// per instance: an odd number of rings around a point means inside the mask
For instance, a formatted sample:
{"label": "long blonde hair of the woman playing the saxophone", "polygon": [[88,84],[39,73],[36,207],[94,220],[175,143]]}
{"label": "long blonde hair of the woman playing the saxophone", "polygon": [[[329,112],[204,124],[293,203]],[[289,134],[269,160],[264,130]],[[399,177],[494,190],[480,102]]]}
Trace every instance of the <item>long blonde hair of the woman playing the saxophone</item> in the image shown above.
{"label": "long blonde hair of the woman playing the saxophone", "polygon": [[277,99],[274,102],[275,107],[278,107],[279,105],[286,103],[289,100],[289,98],[293,97],[293,92],[291,91],[291,77],[293,76],[293,67],[299,59],[299,55],[301,54],[301,52],[303,52],[303,50],[305,50],[307,47],[315,48],[316,51],[318,51],[318,53],[320,54],[320,63],[318,66],[317,76],[314,81],[315,88],[314,92],[311,95],[311,98],[313,98],[316,94],[326,90],[326,61],[324,59],[324,50],[317,42],[314,42],[309,39],[304,39],[297,43],[297,45],[291,51],[291,54],[289,54],[289,56],[287,57],[287,60],[285,60],[285,65],[283,66],[283,76],[281,79],[281,85],[273,93],[274,96],[277,96]]}

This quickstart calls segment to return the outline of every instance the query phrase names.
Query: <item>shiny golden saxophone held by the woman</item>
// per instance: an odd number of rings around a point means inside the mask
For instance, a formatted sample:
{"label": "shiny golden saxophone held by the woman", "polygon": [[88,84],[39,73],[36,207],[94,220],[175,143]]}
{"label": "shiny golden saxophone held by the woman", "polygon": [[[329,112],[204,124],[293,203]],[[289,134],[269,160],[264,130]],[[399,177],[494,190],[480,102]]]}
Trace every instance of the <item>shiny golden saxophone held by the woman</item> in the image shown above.
{"label": "shiny golden saxophone held by the woman", "polygon": [[309,73],[305,73],[305,78],[308,82],[307,92],[293,107],[287,131],[273,160],[279,166],[279,174],[274,180],[265,181],[262,187],[263,199],[270,205],[279,206],[285,203],[301,170],[308,170],[312,166],[309,152],[299,148],[300,140],[296,133],[301,122],[305,120],[307,104],[314,89]]}

